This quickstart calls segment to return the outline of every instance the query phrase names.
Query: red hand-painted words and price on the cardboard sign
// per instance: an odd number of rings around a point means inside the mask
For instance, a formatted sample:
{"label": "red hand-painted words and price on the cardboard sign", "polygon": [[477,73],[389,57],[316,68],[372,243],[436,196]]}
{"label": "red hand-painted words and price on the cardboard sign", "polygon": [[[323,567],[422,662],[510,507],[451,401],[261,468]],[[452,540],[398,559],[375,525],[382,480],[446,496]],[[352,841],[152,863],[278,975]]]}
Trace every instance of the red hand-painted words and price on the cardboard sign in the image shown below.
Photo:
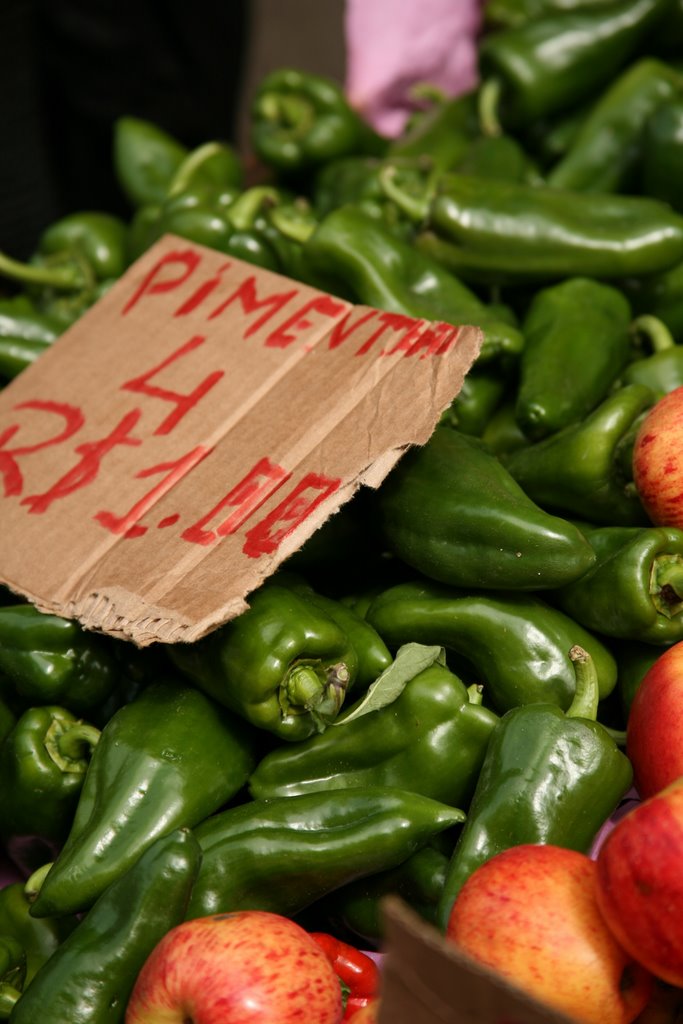
{"label": "red hand-painted words and price on the cardboard sign", "polygon": [[[211,255],[215,258],[216,254]],[[160,322],[163,326],[168,319],[178,324],[187,316],[191,330],[188,331],[189,337],[161,359],[159,347],[156,347],[157,356],[153,366],[142,373],[126,377],[118,384],[116,390],[119,395],[113,416],[116,422],[105,432],[97,436],[94,428],[89,427],[83,408],[74,402],[30,397],[12,407],[14,422],[4,429],[0,427],[0,475],[5,498],[18,500],[31,515],[44,514],[55,503],[97,480],[106,457],[115,450],[139,447],[145,438],[172,434],[200,402],[211,400],[213,389],[224,377],[225,369],[210,369],[207,366],[214,353],[224,352],[226,365],[233,367],[239,346],[254,336],[266,348],[284,349],[301,340],[304,345],[308,343],[318,350],[332,351],[355,339],[354,355],[367,355],[375,349],[373,354],[376,355],[418,357],[443,355],[458,336],[459,329],[452,325],[416,321],[352,306],[332,295],[290,287],[292,282],[274,274],[245,273],[248,264],[221,263],[217,270],[212,268],[210,273],[203,273],[202,265],[201,250],[167,252],[139,284],[135,282],[132,294],[119,307],[124,327],[126,323],[132,326],[136,314],[143,310],[146,303],[155,296],[163,296],[162,307],[156,312],[153,310],[155,327],[158,328]],[[283,285],[286,286],[284,289]],[[169,304],[170,298],[173,301]],[[148,309],[144,315],[144,323],[148,324]],[[224,331],[228,316],[227,342],[221,337],[222,347],[207,345],[207,341],[215,340],[218,326]],[[315,330],[314,316],[323,322],[324,330]],[[327,325],[326,319],[329,322]],[[204,322],[206,328],[201,328],[202,333],[193,333]],[[377,350],[379,339],[386,338],[387,334],[391,335],[391,344]],[[178,374],[178,370],[182,372]],[[169,373],[172,376],[173,372],[174,380],[183,381],[182,390],[177,385],[169,386]],[[102,384],[102,393],[104,391],[111,394],[109,381]],[[126,394],[135,395],[139,404],[126,408]],[[160,407],[159,402],[163,406]],[[25,436],[28,432],[32,438],[29,443],[22,443],[23,430]],[[31,457],[46,449],[56,447],[63,454],[65,445],[68,445],[70,456],[68,468],[65,470],[67,460],[61,463],[56,460],[54,464],[61,471],[48,486],[32,483]],[[94,521],[126,539],[143,537],[153,527],[140,520],[214,450],[211,445],[195,444],[176,458],[138,469],[133,474],[134,479],[152,479],[155,481],[153,485],[128,509],[97,509]],[[43,461],[43,473],[44,466]],[[286,467],[259,453],[253,457],[248,471],[241,471],[238,481],[231,481],[219,500],[185,526],[179,537],[191,544],[215,544],[221,538],[237,532],[275,492],[290,484],[284,499],[256,521],[244,537],[242,550],[247,556],[257,558],[271,554],[342,482],[339,477],[312,472],[304,472],[300,478],[292,479],[292,473]],[[140,489],[144,486],[141,485]],[[124,489],[129,493],[130,488]],[[161,517],[155,526],[174,526],[179,519],[179,513],[173,512]]]}

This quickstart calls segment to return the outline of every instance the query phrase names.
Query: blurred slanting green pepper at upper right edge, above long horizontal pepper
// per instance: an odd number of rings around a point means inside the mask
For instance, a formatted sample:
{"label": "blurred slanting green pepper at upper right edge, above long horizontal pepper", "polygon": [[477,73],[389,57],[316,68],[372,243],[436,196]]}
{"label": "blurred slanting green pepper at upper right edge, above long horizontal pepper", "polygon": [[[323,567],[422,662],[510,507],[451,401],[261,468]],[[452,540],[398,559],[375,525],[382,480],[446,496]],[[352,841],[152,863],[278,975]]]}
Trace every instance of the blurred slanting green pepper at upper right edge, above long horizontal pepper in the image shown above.
{"label": "blurred slanting green pepper at upper right edge, above long horizontal pepper", "polygon": [[[682,91],[683,75],[670,65],[654,57],[643,57],[630,65],[594,104],[568,152],[548,174],[547,183],[553,188],[575,191],[639,190],[635,184],[636,169],[639,165],[644,168],[654,164],[650,153],[656,135],[654,126],[661,123],[659,111]],[[661,195],[650,187],[653,182],[647,182],[644,171],[642,190],[646,196],[671,203],[670,196],[677,189],[680,173],[675,173],[661,153],[656,157],[655,173],[659,160],[669,191]]]}

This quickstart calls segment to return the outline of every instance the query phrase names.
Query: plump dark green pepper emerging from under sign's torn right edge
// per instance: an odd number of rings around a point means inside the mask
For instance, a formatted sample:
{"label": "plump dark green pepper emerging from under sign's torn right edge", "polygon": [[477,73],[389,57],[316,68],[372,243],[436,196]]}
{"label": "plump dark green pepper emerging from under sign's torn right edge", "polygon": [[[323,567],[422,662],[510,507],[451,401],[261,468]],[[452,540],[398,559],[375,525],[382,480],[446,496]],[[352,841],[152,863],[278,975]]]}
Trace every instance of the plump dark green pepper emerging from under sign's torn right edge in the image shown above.
{"label": "plump dark green pepper emerging from under sign's torn right edge", "polygon": [[543,590],[595,560],[577,527],[536,505],[477,438],[443,425],[386,478],[377,515],[395,555],[455,587]]}

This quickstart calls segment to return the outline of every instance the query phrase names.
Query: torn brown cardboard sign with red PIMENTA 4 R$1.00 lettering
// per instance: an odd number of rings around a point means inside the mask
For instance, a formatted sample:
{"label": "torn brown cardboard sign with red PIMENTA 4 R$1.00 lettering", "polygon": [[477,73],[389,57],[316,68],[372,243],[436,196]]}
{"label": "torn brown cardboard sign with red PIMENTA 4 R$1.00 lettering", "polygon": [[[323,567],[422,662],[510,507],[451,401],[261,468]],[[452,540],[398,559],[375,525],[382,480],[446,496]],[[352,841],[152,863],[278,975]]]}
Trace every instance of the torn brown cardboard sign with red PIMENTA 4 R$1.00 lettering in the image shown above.
{"label": "torn brown cardboard sign with red PIMENTA 4 R$1.00 lettering", "polygon": [[480,343],[166,236],[0,392],[0,577],[196,640],[427,440]]}

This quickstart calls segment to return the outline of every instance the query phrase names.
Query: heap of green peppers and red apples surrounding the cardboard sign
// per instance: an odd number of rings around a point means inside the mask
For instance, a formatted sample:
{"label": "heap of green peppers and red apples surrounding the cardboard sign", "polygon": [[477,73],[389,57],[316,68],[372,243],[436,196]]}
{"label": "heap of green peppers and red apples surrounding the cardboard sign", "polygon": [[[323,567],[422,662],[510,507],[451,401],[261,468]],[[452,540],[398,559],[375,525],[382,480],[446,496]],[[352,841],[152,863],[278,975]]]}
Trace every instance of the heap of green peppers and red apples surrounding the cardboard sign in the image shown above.
{"label": "heap of green peppers and red apples surrounding the cardboard sign", "polygon": [[[645,1024],[663,993],[675,1019],[681,44],[680,0],[490,0],[480,84],[424,90],[400,137],[286,68],[254,98],[258,180],[222,141],[122,118],[129,218],[72,213],[28,263],[0,254],[3,384],[166,232],[482,332],[429,440],[196,644],[0,591],[0,1020],[381,1021],[387,894],[578,1021]],[[542,943],[552,903],[548,983],[519,944],[500,958],[488,878]],[[601,950],[581,997],[578,923]],[[233,941],[282,954],[261,1016],[226,1009]]]}

